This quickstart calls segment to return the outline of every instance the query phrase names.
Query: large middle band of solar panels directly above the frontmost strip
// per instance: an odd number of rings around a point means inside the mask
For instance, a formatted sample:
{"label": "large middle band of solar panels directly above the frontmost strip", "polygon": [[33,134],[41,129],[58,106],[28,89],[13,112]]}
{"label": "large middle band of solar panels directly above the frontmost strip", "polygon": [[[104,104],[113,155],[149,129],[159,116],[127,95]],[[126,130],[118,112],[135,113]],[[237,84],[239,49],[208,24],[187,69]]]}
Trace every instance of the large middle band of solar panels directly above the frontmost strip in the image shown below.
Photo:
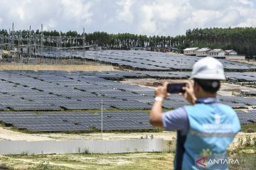
{"label": "large middle band of solar panels directly above the frontmost strip", "polygon": [[[4,71],[0,72],[0,110],[59,111],[103,108],[150,109],[154,89],[122,84],[90,75],[95,72]],[[127,74],[128,75],[128,74]],[[114,76],[114,74],[112,74]],[[129,76],[129,75],[128,75]],[[219,96],[233,108],[256,106],[255,98]],[[165,108],[178,108],[188,103],[171,95]]]}

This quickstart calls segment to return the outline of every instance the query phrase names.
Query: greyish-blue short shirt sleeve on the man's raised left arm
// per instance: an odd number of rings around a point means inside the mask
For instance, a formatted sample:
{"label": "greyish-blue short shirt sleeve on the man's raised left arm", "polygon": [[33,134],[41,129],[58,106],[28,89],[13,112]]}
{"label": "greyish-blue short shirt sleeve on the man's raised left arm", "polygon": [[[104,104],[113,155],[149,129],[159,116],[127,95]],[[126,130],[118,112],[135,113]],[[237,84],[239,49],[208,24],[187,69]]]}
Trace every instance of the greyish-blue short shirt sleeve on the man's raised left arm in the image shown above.
{"label": "greyish-blue short shirt sleeve on the man's raised left arm", "polygon": [[180,130],[181,135],[188,133],[188,115],[184,108],[177,108],[162,115],[162,122],[166,130]]}

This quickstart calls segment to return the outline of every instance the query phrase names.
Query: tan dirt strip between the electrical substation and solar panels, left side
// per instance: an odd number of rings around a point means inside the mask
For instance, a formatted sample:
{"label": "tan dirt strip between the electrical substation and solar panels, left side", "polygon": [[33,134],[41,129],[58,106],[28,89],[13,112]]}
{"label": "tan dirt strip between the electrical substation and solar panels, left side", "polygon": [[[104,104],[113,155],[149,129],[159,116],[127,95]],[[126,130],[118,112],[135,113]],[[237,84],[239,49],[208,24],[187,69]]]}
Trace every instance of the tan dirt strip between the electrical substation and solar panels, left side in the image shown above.
{"label": "tan dirt strip between the electrical substation and solar panels, left side", "polygon": [[12,64],[1,63],[0,70],[63,70],[63,71],[114,71],[114,67],[103,64]]}

